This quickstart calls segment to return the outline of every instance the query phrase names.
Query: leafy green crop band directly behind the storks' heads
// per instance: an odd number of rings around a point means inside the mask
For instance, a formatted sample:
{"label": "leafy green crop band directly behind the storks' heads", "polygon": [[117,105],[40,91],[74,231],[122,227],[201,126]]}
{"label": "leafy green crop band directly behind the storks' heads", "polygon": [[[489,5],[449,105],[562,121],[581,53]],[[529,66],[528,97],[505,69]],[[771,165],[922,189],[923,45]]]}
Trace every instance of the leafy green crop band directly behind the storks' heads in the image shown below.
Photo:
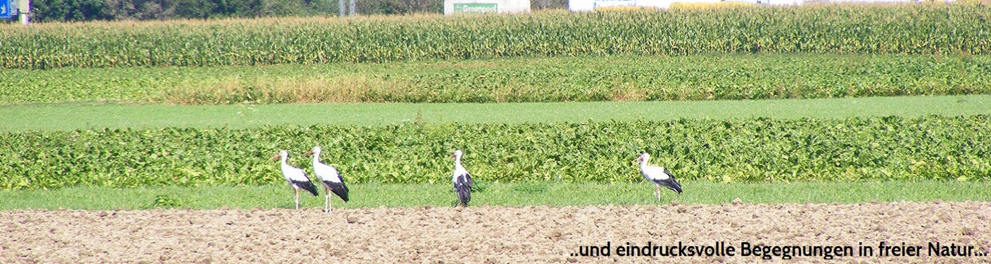
{"label": "leafy green crop band directly behind the storks' heads", "polygon": [[638,181],[641,151],[681,179],[988,180],[991,117],[676,120],[0,134],[0,188],[278,184],[313,145],[351,182],[445,182],[465,151],[488,181]]}

